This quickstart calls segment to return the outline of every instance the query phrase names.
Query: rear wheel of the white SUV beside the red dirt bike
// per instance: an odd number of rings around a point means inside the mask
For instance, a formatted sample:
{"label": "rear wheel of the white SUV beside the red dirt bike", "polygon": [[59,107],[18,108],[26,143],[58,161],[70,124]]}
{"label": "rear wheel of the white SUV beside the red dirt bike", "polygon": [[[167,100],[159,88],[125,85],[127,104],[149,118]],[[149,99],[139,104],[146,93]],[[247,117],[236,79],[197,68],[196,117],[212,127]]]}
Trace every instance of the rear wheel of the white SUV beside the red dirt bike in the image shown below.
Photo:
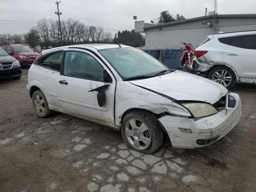
{"label": "rear wheel of the white SUV beside the red dirt bike", "polygon": [[209,73],[208,78],[222,84],[227,89],[232,88],[236,84],[236,74],[232,69],[226,66],[218,66],[213,68]]}

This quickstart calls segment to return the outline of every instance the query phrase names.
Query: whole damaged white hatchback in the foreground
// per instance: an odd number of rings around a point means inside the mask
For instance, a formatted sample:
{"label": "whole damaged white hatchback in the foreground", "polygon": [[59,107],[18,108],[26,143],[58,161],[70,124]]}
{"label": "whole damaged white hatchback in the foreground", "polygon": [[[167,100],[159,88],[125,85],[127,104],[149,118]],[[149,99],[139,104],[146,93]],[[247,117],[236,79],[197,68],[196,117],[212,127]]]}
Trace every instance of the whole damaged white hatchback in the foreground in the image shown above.
{"label": "whole damaged white hatchback in the foreground", "polygon": [[45,50],[29,69],[27,90],[38,116],[54,110],[121,130],[130,148],[145,153],[161,146],[163,134],[173,147],[208,146],[242,114],[238,94],[221,84],[124,45]]}

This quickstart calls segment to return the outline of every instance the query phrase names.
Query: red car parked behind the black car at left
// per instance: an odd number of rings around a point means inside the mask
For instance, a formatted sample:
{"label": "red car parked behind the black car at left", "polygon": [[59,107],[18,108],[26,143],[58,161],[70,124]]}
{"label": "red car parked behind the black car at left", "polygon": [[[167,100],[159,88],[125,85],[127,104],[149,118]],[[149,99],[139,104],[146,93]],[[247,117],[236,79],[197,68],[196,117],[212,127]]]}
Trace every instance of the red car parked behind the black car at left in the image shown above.
{"label": "red car parked behind the black car at left", "polygon": [[31,66],[38,53],[29,48],[28,46],[11,44],[2,46],[11,56],[16,58],[21,66]]}

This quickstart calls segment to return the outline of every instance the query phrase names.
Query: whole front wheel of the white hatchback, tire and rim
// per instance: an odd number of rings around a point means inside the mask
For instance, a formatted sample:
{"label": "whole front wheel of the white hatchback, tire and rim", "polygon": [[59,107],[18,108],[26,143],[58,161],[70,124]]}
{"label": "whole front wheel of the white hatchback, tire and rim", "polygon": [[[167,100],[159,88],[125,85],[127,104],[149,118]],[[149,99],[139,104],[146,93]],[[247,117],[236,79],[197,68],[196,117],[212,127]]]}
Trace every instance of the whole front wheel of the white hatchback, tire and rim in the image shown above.
{"label": "whole front wheel of the white hatchback, tire and rim", "polygon": [[123,118],[121,132],[130,148],[143,153],[155,152],[163,142],[163,130],[158,119],[144,110],[128,113]]}

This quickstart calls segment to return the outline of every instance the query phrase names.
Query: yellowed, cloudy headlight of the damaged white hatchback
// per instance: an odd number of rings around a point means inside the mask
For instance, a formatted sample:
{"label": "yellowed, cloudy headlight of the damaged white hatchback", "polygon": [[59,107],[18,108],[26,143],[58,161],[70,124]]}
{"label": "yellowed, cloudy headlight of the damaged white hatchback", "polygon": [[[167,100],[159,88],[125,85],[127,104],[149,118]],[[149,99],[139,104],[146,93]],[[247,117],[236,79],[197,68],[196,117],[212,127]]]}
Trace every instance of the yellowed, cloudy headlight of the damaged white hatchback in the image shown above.
{"label": "yellowed, cloudy headlight of the damaged white hatchback", "polygon": [[182,103],[195,118],[205,117],[217,113],[216,108],[207,103]]}

